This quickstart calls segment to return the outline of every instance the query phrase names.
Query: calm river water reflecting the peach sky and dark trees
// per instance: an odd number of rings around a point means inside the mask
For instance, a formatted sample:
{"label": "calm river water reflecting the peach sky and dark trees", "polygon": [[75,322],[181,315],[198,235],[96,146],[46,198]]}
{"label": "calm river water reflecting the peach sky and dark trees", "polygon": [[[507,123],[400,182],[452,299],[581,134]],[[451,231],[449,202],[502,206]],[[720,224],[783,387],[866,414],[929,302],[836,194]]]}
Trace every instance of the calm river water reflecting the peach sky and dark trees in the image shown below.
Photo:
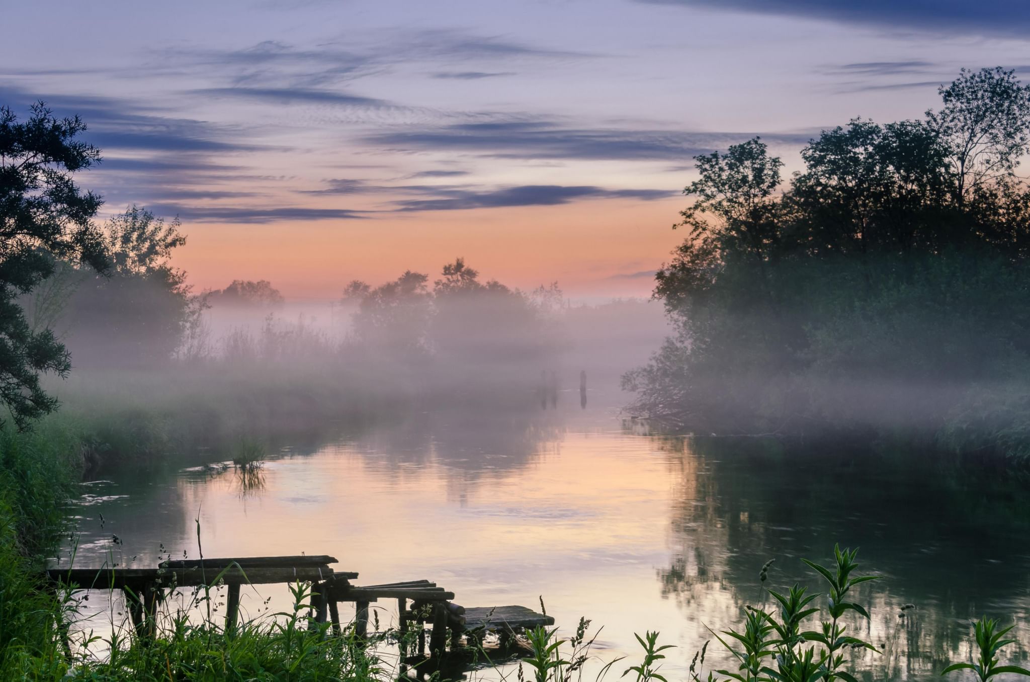
{"label": "calm river water reflecting the peach sky and dark trees", "polygon": [[[566,629],[580,616],[604,625],[599,660],[636,662],[633,633],[658,629],[677,647],[664,664],[674,680],[712,638],[707,627],[761,602],[765,560],[777,559],[769,585],[815,587],[798,559],[828,560],[836,541],[885,576],[857,600],[871,619],[856,628],[884,649],[856,659],[871,671],[863,679],[936,679],[967,656],[968,620],[982,613],[1015,620],[1030,643],[1020,484],[912,453],[653,436],[578,398],[563,394],[556,411],[427,412],[340,427],[321,445],[277,443],[251,488],[200,468],[108,475],[88,487],[76,566],[151,566],[162,548],[196,557],[199,519],[206,556],[332,554],[357,582],[428,578],[465,606],[537,607],[543,595]],[[255,613],[265,598],[288,602],[285,587],[262,586],[243,606]],[[907,603],[916,610],[898,618]],[[89,626],[103,632],[110,613]]]}

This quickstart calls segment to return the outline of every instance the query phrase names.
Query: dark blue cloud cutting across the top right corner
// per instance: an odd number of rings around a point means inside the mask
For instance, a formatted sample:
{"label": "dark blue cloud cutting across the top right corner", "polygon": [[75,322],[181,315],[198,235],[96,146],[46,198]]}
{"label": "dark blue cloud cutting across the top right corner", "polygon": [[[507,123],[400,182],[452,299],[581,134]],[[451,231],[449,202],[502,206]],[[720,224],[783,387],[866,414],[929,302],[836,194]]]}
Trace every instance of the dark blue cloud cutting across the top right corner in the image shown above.
{"label": "dark blue cloud cutting across the top right corner", "polygon": [[881,29],[899,28],[950,34],[992,34],[1026,37],[1030,3],[1025,0],[638,0],[649,4],[682,5],[862,24]]}

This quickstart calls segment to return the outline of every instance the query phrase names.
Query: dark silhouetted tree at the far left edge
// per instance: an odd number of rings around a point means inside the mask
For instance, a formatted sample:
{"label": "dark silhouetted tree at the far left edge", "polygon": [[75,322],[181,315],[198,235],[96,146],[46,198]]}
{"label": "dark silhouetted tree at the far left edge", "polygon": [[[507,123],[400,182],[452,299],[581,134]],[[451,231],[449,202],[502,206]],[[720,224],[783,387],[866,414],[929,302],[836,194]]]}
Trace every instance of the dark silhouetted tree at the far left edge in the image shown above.
{"label": "dark silhouetted tree at the far left edge", "polygon": [[78,116],[57,118],[43,102],[24,122],[0,107],[0,402],[19,429],[58,405],[40,374],[65,376],[71,363],[50,330],[32,329],[18,298],[50,276],[58,261],[109,269],[92,223],[102,199],[73,179],[100,162],[100,150],[78,139],[84,131]]}

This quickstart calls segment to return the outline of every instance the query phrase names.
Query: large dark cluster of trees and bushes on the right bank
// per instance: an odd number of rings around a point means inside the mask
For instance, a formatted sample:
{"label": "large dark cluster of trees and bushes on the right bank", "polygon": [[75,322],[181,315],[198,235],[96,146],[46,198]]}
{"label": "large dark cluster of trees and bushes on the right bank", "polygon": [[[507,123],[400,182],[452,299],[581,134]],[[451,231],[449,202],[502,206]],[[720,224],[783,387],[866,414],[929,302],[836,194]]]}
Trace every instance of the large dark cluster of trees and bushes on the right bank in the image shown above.
{"label": "large dark cluster of trees and bushes on the right bank", "polygon": [[940,94],[921,121],[823,131],[786,187],[757,138],[695,158],[690,236],[656,276],[677,334],[625,375],[636,414],[934,437],[1030,371],[1030,89],[984,69]]}

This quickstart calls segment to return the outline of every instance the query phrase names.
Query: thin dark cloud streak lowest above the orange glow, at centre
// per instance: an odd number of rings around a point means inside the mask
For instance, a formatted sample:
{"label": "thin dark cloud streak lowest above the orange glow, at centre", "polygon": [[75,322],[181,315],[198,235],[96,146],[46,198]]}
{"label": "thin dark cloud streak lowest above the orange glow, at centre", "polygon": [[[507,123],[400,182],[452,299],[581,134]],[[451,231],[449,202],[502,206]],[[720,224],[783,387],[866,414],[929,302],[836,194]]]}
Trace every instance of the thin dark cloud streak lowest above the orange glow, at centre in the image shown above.
{"label": "thin dark cloud streak lowest above the orange glow, at centre", "polygon": [[[432,190],[432,189],[430,189]],[[445,211],[470,208],[511,206],[555,206],[579,199],[664,199],[675,192],[666,190],[606,190],[592,185],[524,184],[492,191],[445,187],[442,198],[411,199],[394,202],[402,211]]]}

